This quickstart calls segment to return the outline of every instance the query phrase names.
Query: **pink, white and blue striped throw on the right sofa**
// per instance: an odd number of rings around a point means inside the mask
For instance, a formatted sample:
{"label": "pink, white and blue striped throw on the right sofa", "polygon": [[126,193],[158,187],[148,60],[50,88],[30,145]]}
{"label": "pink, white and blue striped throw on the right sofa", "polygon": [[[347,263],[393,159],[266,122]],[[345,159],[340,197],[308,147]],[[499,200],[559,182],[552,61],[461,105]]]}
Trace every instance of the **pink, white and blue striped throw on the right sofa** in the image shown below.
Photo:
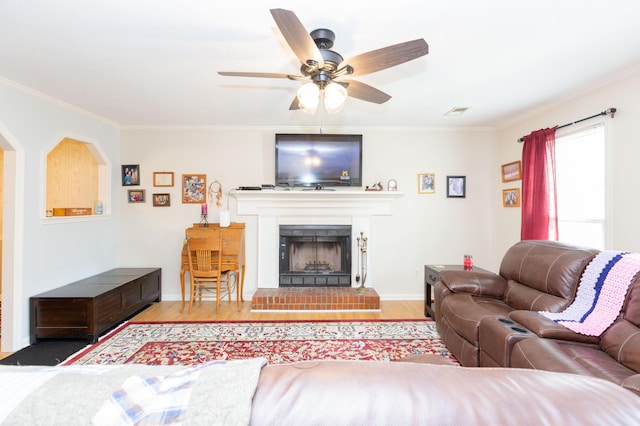
{"label": "pink, white and blue striped throw on the right sofa", "polygon": [[576,298],[563,312],[539,312],[576,333],[600,336],[616,320],[629,286],[640,272],[640,254],[607,250],[580,278]]}

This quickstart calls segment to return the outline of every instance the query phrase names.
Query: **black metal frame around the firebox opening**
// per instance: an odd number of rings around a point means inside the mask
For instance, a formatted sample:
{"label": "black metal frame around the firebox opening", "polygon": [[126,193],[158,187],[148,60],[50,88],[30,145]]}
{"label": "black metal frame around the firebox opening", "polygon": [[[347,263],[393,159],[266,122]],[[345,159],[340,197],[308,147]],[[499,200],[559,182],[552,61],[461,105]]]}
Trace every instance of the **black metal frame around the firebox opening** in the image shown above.
{"label": "black metal frame around the firebox opening", "polygon": [[[351,287],[351,225],[280,225],[280,287]],[[290,265],[292,246],[336,242],[340,270],[295,270]]]}

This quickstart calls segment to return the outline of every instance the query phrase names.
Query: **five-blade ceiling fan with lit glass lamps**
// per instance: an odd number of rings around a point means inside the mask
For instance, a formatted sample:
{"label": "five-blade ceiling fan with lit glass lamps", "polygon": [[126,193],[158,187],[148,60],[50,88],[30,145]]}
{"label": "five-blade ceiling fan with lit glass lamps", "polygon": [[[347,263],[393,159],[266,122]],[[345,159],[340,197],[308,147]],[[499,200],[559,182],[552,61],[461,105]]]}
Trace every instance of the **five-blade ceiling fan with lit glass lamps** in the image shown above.
{"label": "five-blade ceiling fan with lit glass lamps", "polygon": [[318,104],[322,102],[329,113],[334,113],[340,110],[347,96],[376,104],[385,103],[391,99],[390,95],[368,84],[345,77],[371,74],[429,53],[427,42],[417,39],[372,50],[345,61],[338,52],[330,50],[335,40],[333,31],[320,28],[309,33],[290,10],[271,9],[271,15],[287,44],[302,63],[300,74],[227,71],[220,71],[218,74],[306,81],[307,83],[298,89],[290,110],[302,109],[314,113]]}

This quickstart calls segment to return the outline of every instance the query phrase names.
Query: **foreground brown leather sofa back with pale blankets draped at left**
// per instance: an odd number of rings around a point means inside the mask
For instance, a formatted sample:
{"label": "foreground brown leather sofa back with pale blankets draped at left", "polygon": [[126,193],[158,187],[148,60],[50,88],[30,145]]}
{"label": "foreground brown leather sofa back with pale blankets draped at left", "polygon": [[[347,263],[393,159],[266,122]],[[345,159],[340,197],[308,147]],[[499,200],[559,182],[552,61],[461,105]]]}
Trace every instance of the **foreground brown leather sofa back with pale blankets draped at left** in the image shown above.
{"label": "foreground brown leather sofa back with pale blankets draped at left", "polygon": [[640,424],[640,398],[606,380],[517,368],[435,365],[435,356],[427,357],[427,364],[420,356],[410,362],[284,365],[264,365],[258,359],[191,367],[0,366],[2,383],[9,383],[0,386],[0,423]]}

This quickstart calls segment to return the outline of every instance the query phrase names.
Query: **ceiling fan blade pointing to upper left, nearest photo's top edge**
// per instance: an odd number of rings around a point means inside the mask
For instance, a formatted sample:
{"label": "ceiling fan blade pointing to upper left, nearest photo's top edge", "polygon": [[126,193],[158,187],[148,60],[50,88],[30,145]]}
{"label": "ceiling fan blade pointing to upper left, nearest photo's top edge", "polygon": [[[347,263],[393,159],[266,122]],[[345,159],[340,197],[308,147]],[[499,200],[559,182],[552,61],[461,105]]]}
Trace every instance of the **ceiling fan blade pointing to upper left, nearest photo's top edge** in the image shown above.
{"label": "ceiling fan blade pointing to upper left, nearest photo's top edge", "polygon": [[295,13],[285,9],[271,9],[271,16],[300,62],[308,64],[313,61],[318,64],[318,68],[324,67],[320,50]]}

